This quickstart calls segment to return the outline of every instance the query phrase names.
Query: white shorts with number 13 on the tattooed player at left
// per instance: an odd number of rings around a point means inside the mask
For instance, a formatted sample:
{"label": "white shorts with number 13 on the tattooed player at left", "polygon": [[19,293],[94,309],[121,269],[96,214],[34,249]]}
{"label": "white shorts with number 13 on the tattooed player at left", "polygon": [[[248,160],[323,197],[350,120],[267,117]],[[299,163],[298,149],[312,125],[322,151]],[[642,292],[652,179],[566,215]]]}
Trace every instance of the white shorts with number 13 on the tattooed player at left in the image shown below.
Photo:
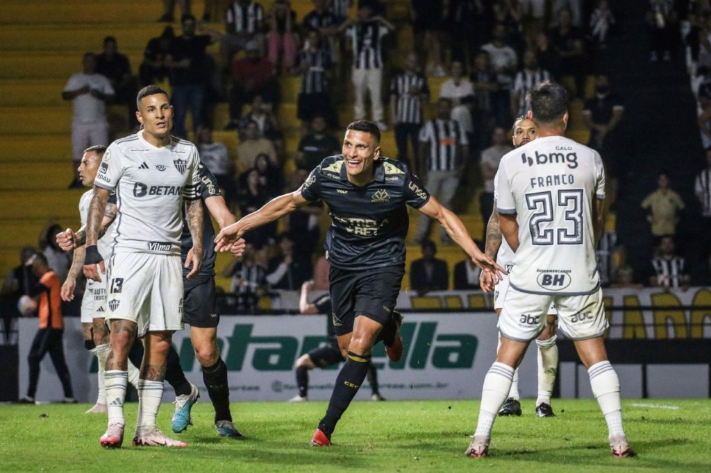
{"label": "white shorts with number 13 on the tattooed player at left", "polygon": [[109,261],[107,320],[138,324],[138,335],[183,329],[180,255],[117,253]]}

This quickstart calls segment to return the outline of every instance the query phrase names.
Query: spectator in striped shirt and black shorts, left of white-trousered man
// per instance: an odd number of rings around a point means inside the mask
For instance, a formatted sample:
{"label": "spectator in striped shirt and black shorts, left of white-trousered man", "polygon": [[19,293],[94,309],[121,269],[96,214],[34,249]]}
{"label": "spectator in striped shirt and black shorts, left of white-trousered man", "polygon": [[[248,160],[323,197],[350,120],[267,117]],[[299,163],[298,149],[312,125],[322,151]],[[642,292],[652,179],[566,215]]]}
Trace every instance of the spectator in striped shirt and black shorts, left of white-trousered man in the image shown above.
{"label": "spectator in striped shirt and black shorts, left of white-trousered man", "polygon": [[[312,17],[314,18],[314,17]],[[296,116],[301,120],[301,134],[308,132],[309,123],[316,116],[336,125],[336,112],[328,92],[328,75],[333,62],[328,49],[322,48],[323,38],[318,30],[311,28],[306,33],[304,49],[296,57],[296,71],[301,75],[301,89],[296,104]]]}

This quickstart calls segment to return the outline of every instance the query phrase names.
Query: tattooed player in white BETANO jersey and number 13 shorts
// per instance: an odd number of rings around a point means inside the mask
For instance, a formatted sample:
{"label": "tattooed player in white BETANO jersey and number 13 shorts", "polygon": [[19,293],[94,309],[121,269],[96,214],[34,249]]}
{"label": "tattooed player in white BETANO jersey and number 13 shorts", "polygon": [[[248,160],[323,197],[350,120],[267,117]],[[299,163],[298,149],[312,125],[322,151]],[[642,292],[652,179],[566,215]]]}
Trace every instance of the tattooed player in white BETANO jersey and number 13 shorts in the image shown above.
{"label": "tattooed player in white BETANO jersey and number 13 shorts", "polygon": [[171,136],[173,107],[168,94],[155,85],[137,97],[137,134],[114,141],[97,174],[87,220],[84,273],[101,281],[105,266],[97,250],[99,228],[110,193],[119,211],[109,259],[107,320],[111,337],[106,364],[109,425],[100,443],[120,447],[124,433],[123,403],[127,359],[137,336],[144,336],[145,354],[139,380],[139,415],[134,445],[185,447],[156,428],[163,396],[166,355],[173,332],[183,328],[181,233],[183,201],[193,249],[186,260],[198,273],[202,261],[203,206],[197,194],[200,158],[193,143]]}

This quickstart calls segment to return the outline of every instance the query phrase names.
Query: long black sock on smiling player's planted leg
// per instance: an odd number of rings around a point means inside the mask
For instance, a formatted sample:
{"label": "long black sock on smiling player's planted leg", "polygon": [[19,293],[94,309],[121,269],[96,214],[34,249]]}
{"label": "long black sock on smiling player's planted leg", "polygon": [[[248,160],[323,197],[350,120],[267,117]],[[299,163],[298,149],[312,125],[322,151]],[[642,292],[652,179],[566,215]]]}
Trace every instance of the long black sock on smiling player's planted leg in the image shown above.
{"label": "long black sock on smiling player's planted leg", "polygon": [[370,366],[370,354],[362,355],[348,352],[346,363],[343,364],[343,368],[341,368],[336,377],[336,386],[333,387],[331,401],[328,401],[326,415],[319,423],[319,429],[329,439],[333,429],[336,428],[336,423],[341,419],[341,415],[346,411],[351,401],[353,401],[360,385],[363,384],[365,374],[368,373],[368,366]]}

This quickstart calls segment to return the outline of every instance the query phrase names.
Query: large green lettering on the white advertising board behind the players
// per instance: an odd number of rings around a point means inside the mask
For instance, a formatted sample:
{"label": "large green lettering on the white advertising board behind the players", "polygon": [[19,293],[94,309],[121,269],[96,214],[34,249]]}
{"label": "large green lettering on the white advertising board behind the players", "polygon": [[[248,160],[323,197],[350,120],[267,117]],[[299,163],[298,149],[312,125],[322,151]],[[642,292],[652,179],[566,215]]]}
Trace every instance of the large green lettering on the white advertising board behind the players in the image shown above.
{"label": "large green lettering on the white advertising board behind the players", "polygon": [[[224,351],[225,364],[230,371],[292,371],[294,361],[311,349],[327,342],[324,335],[252,335],[255,325],[236,323],[232,335],[218,335]],[[427,367],[436,369],[471,369],[478,339],[468,333],[441,333],[438,322],[405,322],[400,327],[405,353],[397,363],[387,361],[383,344],[373,349],[378,369],[405,370]],[[180,346],[181,366],[186,371],[198,366],[195,351],[186,337]],[[378,361],[384,360],[384,361]],[[338,365],[327,369],[337,370]]]}

